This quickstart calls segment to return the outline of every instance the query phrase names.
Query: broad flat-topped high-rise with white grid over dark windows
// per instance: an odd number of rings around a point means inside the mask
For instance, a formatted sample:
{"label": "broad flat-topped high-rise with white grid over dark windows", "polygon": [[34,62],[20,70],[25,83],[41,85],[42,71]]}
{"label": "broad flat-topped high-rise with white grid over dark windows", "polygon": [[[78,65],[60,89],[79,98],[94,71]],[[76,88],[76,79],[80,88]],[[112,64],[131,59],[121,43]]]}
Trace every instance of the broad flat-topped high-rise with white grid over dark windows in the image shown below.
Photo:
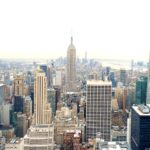
{"label": "broad flat-topped high-rise with white grid over dark windows", "polygon": [[108,81],[87,81],[86,138],[97,133],[106,141],[111,139],[112,84]]}

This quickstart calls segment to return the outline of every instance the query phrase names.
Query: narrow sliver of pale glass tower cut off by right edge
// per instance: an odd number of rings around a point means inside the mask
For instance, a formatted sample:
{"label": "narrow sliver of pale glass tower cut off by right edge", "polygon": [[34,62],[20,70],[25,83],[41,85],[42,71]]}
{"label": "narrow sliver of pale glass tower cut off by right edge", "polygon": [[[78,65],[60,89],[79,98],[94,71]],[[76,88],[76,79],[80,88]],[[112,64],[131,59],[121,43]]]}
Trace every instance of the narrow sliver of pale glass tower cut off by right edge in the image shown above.
{"label": "narrow sliver of pale glass tower cut off by right edge", "polygon": [[148,63],[148,79],[147,79],[147,97],[146,104],[150,105],[150,52],[149,52],[149,63]]}

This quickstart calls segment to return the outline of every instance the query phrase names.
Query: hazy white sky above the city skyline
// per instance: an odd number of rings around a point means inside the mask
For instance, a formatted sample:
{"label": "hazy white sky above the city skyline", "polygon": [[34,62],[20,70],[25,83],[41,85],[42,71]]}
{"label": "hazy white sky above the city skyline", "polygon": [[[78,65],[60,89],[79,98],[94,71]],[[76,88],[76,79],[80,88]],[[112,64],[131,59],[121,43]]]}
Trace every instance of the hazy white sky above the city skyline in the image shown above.
{"label": "hazy white sky above the city skyline", "polygon": [[1,0],[0,58],[148,60],[149,0]]}

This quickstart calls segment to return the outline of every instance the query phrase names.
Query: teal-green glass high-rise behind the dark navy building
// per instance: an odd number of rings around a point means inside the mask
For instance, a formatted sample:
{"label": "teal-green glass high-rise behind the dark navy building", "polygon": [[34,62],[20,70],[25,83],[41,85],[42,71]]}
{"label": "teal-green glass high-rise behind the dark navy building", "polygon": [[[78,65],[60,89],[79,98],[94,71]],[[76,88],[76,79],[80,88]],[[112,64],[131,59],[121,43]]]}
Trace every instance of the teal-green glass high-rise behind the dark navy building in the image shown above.
{"label": "teal-green glass high-rise behind the dark navy building", "polygon": [[146,104],[147,77],[141,76],[136,81],[136,104]]}

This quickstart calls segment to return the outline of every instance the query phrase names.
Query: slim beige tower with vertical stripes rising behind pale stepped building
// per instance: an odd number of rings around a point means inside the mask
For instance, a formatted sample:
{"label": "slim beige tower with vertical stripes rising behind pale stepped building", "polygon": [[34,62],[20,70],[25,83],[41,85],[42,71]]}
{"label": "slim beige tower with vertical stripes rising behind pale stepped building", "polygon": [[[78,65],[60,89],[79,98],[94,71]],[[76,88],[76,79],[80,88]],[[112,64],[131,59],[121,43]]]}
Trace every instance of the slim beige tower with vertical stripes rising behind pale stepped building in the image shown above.
{"label": "slim beige tower with vertical stripes rising behind pale stepped building", "polygon": [[36,72],[34,81],[34,123],[51,123],[51,108],[47,102],[47,78],[40,69]]}

